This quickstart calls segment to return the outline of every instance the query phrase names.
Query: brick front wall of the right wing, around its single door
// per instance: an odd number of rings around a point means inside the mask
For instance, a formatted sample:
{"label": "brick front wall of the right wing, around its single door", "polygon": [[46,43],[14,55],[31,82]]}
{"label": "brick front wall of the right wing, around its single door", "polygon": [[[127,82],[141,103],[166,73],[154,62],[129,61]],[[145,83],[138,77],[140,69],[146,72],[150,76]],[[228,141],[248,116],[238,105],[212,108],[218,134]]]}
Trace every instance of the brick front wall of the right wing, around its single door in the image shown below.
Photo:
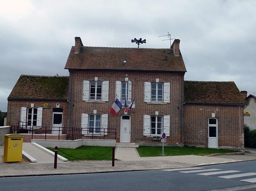
{"label": "brick front wall of the right wing, around its single door", "polygon": [[243,106],[185,104],[183,137],[185,145],[208,146],[208,119],[218,119],[218,146],[244,147]]}

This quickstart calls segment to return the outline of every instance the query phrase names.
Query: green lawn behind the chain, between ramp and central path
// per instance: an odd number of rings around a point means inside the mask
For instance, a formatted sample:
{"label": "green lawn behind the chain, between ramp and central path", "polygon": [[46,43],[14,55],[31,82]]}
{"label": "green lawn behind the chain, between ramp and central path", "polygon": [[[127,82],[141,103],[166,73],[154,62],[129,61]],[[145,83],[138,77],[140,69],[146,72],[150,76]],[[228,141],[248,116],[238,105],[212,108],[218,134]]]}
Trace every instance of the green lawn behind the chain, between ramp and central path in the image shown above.
{"label": "green lawn behind the chain, between ramp and central path", "polygon": [[[47,148],[54,152],[54,148]],[[108,152],[109,151],[109,152]],[[112,160],[112,147],[81,146],[75,149],[58,148],[58,154],[68,161]]]}

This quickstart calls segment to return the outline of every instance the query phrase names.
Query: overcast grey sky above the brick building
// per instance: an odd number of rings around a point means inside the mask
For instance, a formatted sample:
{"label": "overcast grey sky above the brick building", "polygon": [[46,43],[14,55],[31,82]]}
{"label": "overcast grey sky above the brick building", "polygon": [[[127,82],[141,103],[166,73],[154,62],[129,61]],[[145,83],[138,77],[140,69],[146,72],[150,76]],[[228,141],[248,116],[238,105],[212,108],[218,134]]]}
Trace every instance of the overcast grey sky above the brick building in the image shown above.
{"label": "overcast grey sky above the brick building", "polygon": [[[256,95],[255,0],[11,0],[0,6],[0,110],[21,74],[69,75],[84,46],[169,48],[180,39],[185,80],[234,81]],[[173,41],[171,41],[172,43]]]}

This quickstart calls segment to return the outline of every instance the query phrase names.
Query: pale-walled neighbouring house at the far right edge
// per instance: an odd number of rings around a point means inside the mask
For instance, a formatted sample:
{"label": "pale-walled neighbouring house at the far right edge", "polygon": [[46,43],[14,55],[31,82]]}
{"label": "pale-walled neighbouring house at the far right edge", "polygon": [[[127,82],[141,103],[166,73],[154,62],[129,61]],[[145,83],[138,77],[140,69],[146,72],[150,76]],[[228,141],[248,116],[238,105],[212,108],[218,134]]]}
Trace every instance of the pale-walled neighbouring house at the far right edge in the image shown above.
{"label": "pale-walled neighbouring house at the far right edge", "polygon": [[256,129],[256,96],[249,95],[245,98],[247,106],[244,108],[244,123],[250,130]]}

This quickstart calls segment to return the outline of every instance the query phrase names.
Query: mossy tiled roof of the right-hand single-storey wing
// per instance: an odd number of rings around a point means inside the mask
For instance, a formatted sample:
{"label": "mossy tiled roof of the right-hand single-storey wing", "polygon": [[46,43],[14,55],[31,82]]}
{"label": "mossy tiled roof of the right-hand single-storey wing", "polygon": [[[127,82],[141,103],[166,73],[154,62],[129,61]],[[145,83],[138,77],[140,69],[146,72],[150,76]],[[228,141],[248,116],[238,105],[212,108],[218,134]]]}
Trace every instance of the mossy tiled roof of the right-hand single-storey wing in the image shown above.
{"label": "mossy tiled roof of the right-hand single-storey wing", "polygon": [[184,81],[184,102],[245,104],[235,82],[210,81]]}

